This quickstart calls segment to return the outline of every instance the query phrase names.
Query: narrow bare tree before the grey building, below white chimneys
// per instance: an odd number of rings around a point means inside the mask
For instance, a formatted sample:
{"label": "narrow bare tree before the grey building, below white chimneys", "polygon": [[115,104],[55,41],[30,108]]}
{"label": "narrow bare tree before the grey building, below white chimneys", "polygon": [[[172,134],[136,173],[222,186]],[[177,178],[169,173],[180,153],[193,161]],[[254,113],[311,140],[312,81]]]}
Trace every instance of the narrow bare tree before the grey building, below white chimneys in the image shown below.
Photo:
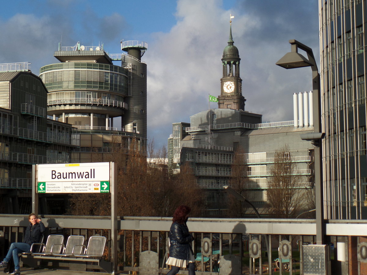
{"label": "narrow bare tree before the grey building, below white chimneys", "polygon": [[302,205],[299,186],[302,177],[287,145],[275,151],[270,174],[272,177],[267,190],[269,213],[276,218],[295,217]]}

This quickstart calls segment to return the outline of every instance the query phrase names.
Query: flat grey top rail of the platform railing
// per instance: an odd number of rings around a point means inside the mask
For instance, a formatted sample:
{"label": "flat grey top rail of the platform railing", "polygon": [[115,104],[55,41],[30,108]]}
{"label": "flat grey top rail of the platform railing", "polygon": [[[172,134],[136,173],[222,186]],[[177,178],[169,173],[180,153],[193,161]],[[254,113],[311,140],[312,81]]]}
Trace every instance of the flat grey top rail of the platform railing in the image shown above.
{"label": "flat grey top rail of the platform railing", "polygon": [[[28,225],[28,217],[20,214],[0,214],[0,226]],[[110,229],[109,216],[42,215],[46,227]],[[118,217],[118,230],[169,231],[172,217]],[[229,219],[192,218],[192,232],[222,232],[247,234],[316,235],[315,219]],[[327,220],[326,235],[360,236],[367,232],[367,220]]]}

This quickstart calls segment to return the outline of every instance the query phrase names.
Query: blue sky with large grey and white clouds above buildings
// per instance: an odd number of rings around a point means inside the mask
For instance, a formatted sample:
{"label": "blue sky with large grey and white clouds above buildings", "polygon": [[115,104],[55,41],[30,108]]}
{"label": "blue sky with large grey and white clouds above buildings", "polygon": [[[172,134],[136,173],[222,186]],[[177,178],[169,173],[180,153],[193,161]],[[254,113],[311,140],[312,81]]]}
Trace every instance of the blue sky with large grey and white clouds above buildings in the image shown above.
{"label": "blue sky with large grey and white clouds above buildings", "polygon": [[109,54],[122,52],[121,40],[148,43],[142,57],[148,140],[156,148],[167,146],[172,123],[190,122],[208,110],[208,94],[220,95],[230,14],[245,110],[262,114],[263,122],[292,120],[293,93],[312,89],[310,68],[275,65],[291,50],[288,40],[312,48],[319,65],[317,0],[16,0],[1,6],[0,63],[31,62],[37,75],[41,66],[58,63],[59,42],[103,43]]}

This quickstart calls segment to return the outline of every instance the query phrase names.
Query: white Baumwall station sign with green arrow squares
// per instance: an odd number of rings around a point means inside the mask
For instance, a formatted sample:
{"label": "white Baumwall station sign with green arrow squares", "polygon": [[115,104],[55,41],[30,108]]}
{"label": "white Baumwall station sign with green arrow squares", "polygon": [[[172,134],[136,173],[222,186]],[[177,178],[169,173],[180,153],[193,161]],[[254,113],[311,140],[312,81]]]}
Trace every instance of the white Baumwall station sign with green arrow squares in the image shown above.
{"label": "white Baumwall station sign with green arrow squares", "polygon": [[38,193],[108,193],[109,162],[39,164]]}

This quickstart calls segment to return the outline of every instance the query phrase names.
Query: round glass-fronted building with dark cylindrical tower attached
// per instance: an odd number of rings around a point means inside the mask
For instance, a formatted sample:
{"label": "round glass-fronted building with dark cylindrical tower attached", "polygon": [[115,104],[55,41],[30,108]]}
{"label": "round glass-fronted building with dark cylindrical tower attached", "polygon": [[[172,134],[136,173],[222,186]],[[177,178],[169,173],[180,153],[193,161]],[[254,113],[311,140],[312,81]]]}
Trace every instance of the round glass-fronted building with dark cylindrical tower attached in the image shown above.
{"label": "round glass-fronted building with dark cylindrical tower attached", "polygon": [[[141,56],[147,47],[124,41],[121,49],[127,54],[108,54],[103,45],[59,45],[54,56],[61,63],[41,67],[47,114],[72,124],[80,140],[73,162],[110,161],[112,143],[121,144],[125,153],[133,141],[145,150],[146,63]],[[113,65],[120,60],[121,66]]]}

